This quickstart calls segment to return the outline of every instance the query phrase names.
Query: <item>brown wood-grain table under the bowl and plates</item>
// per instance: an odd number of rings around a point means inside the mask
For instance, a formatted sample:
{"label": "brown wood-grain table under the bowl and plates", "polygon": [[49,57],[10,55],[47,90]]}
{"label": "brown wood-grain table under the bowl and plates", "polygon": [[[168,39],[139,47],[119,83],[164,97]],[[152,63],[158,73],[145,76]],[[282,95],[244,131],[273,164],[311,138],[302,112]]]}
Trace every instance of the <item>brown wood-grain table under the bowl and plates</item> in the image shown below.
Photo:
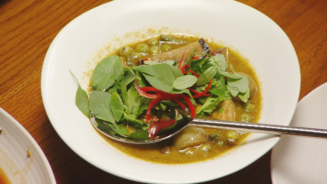
{"label": "brown wood-grain table under the bowl and plates", "polygon": [[[42,63],[54,37],[78,15],[108,1],[0,1],[0,107],[39,143],[58,184],[137,183],[108,174],[74,153],[50,124],[41,97]],[[266,14],[290,38],[301,68],[300,99],[327,82],[325,0],[240,2]],[[270,151],[250,166],[206,183],[271,183]]]}

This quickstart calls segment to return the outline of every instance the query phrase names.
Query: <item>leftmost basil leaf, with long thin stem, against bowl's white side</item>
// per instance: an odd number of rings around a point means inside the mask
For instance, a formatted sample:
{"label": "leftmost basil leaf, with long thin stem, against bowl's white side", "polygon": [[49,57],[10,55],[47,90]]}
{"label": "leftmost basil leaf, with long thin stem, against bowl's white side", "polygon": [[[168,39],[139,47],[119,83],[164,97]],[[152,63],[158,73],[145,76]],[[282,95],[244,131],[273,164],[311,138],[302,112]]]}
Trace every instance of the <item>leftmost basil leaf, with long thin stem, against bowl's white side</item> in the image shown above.
{"label": "leftmost basil leaf, with long thin stem, against bowl's white side", "polygon": [[74,76],[75,80],[77,81],[78,87],[76,91],[76,99],[75,104],[77,108],[86,116],[90,117],[90,110],[89,110],[89,99],[86,91],[84,91],[81,86],[79,85],[79,82],[76,78],[76,76],[73,74],[72,71],[69,70],[69,72]]}

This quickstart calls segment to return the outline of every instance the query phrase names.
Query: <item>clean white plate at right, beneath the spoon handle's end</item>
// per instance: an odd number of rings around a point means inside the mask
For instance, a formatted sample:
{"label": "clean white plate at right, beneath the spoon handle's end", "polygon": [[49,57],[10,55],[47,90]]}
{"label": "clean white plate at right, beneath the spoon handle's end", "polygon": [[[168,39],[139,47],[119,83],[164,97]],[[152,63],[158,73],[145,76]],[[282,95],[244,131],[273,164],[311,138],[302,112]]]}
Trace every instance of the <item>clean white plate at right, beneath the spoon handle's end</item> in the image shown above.
{"label": "clean white plate at right, beneath the spoon handle's end", "polygon": [[[327,83],[305,97],[296,108],[292,126],[327,129]],[[325,184],[327,140],[282,136],[272,149],[273,184]]]}

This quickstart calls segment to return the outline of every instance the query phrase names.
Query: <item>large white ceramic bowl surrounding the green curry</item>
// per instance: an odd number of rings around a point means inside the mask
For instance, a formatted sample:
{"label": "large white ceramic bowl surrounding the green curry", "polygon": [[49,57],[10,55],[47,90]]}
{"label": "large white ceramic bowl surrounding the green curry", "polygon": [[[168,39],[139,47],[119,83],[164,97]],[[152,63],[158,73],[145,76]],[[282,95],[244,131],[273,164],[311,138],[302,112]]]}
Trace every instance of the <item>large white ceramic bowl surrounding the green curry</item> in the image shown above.
{"label": "large white ceramic bowl surrounding the green curry", "polygon": [[[148,31],[148,27],[153,29]],[[170,31],[222,41],[248,58],[262,82],[264,104],[260,122],[289,125],[300,93],[300,67],[292,43],[267,16],[230,0],[115,0],[83,13],[66,25],[45,56],[42,98],[59,136],[96,167],[147,183],[212,180],[236,172],[263,156],[279,137],[253,134],[248,142],[228,154],[198,163],[164,165],[134,159],[103,140],[77,109],[77,83],[69,70],[85,89],[88,72],[108,54],[104,48],[112,51],[138,38]]]}

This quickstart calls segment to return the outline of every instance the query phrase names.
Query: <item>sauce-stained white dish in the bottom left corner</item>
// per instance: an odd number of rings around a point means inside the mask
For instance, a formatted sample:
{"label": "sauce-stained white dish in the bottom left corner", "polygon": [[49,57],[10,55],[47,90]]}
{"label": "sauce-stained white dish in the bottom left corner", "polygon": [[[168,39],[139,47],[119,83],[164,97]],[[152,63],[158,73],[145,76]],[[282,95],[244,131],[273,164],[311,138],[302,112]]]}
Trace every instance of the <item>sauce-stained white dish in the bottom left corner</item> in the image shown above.
{"label": "sauce-stained white dish in the bottom left corner", "polygon": [[[0,167],[13,184],[56,184],[43,151],[26,129],[0,108]],[[28,156],[27,151],[30,152]]]}

